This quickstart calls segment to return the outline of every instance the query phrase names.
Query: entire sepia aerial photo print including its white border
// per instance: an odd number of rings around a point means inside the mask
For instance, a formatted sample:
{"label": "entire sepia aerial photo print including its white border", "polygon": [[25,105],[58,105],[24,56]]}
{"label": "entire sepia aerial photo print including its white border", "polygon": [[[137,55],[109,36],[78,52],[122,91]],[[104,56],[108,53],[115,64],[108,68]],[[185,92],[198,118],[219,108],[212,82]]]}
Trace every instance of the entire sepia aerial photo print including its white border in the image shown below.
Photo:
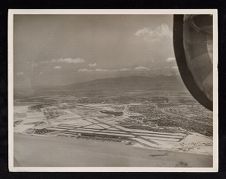
{"label": "entire sepia aerial photo print including its white border", "polygon": [[10,171],[218,170],[217,11],[8,14]]}

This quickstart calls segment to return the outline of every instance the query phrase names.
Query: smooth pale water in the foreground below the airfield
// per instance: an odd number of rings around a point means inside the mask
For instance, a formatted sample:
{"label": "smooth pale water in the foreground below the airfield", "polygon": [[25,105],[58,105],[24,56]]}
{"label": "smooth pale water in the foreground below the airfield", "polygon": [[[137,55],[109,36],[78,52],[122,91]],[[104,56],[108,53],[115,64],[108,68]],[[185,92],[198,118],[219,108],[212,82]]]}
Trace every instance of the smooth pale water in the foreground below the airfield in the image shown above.
{"label": "smooth pale water in the foreground below the airfield", "polygon": [[213,157],[124,143],[14,134],[15,167],[212,167]]}

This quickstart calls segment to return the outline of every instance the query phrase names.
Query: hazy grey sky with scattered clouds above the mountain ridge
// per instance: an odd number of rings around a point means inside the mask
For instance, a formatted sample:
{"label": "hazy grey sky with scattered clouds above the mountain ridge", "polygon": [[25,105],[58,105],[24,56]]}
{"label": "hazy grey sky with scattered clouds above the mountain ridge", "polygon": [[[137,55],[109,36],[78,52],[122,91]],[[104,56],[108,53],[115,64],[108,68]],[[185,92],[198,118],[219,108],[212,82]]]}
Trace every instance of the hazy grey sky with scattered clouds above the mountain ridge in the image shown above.
{"label": "hazy grey sky with scattered clouds above the mountain ridge", "polygon": [[15,15],[16,88],[177,73],[171,15]]}

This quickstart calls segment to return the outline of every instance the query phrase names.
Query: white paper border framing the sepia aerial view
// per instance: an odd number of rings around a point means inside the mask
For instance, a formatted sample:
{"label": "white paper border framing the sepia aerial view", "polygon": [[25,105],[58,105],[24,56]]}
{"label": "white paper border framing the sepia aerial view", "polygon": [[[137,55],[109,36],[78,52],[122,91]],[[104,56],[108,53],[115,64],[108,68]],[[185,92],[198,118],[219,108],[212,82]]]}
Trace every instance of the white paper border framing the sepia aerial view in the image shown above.
{"label": "white paper border framing the sepia aerial view", "polygon": [[[212,14],[213,167],[15,167],[13,135],[13,18],[16,14]],[[8,167],[11,172],[218,172],[218,16],[217,9],[9,9],[8,10]]]}

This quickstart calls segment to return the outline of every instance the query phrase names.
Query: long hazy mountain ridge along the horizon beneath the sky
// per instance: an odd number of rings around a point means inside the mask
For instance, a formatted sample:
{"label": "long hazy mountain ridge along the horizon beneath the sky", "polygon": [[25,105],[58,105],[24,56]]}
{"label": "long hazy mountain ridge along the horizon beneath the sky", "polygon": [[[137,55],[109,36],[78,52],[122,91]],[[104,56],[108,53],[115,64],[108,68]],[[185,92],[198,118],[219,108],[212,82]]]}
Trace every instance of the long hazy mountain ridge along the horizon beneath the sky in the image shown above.
{"label": "long hazy mountain ridge along the horizon beneath the sky", "polygon": [[[186,88],[178,76],[128,76],[104,78],[92,81],[75,83],[65,86],[37,88],[30,96],[47,94],[98,94],[99,92],[126,92],[133,90],[174,90],[185,91]],[[26,95],[25,95],[26,94]],[[28,93],[15,90],[15,97],[29,96]]]}

